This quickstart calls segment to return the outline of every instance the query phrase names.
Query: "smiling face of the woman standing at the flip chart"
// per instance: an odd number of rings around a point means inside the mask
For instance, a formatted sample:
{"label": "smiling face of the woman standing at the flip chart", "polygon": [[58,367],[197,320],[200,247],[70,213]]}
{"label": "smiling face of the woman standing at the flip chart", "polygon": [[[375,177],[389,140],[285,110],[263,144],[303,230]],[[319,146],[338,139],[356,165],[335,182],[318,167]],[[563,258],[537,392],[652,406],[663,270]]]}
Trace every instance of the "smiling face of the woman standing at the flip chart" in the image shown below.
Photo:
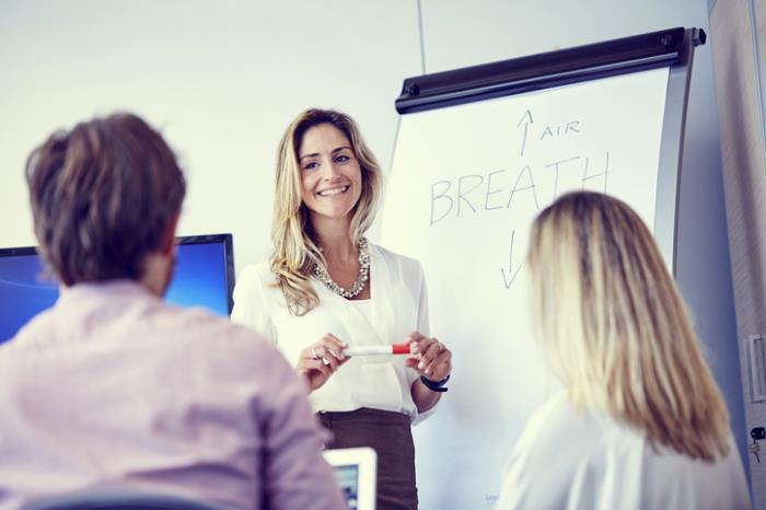
{"label": "smiling face of the woman standing at the flip chart", "polygon": [[362,172],[346,135],[332,124],[309,128],[298,150],[298,163],[301,195],[312,223],[350,222],[362,192]]}

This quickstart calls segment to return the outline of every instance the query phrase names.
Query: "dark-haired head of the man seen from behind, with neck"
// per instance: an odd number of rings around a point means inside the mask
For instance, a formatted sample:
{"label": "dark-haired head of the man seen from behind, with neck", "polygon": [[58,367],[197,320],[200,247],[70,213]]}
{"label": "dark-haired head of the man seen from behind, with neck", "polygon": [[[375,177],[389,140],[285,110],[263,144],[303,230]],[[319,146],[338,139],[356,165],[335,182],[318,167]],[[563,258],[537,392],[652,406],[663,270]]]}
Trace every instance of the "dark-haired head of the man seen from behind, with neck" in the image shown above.
{"label": "dark-haired head of the man seen from behind, with neck", "polygon": [[26,179],[42,255],[65,286],[127,278],[164,291],[186,183],[147,123],[118,113],[57,131]]}

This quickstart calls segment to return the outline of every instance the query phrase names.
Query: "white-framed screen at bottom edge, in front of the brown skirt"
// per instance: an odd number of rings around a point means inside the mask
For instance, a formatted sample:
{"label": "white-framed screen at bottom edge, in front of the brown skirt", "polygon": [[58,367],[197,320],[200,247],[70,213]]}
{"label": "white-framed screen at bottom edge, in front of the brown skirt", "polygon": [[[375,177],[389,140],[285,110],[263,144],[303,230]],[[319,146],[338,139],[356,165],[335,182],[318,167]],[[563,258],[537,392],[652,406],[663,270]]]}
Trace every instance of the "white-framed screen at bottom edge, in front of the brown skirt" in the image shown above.
{"label": "white-framed screen at bottom edge, in front of the brown skirt", "polygon": [[375,510],[378,454],[371,448],[343,448],[322,452],[350,510]]}

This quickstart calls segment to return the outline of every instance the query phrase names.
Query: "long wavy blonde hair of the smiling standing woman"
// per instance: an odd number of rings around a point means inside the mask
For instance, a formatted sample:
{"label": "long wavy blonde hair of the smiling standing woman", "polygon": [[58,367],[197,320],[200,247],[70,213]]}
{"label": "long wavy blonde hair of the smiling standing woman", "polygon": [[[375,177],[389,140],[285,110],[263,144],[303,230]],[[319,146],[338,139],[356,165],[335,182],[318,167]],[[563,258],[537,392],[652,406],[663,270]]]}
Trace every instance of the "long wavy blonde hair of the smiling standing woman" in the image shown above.
{"label": "long wavy blonde hair of the smiling standing woman", "polygon": [[276,286],[285,294],[293,315],[305,315],[320,304],[311,277],[317,264],[325,264],[301,198],[301,166],[298,151],[305,132],[322,124],[338,128],[348,139],[362,174],[362,190],[351,218],[351,241],[357,243],[375,218],[381,190],[378,160],[362,139],[351,117],[333,109],[311,108],[288,126],[277,152],[277,183],[271,221],[274,252],[269,258]]}

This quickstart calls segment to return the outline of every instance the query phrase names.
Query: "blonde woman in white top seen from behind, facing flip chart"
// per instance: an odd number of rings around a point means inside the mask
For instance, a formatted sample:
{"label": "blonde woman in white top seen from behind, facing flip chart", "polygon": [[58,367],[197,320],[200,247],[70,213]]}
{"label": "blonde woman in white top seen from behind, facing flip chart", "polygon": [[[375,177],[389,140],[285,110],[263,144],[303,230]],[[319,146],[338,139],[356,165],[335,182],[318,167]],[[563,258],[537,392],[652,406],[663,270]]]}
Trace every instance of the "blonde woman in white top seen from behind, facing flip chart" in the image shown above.
{"label": "blonde woman in white top seen from behind, facing flip chart", "polygon": [[565,391],[530,419],[498,509],[750,508],[727,407],[651,233],[562,196],[532,228],[533,316]]}

